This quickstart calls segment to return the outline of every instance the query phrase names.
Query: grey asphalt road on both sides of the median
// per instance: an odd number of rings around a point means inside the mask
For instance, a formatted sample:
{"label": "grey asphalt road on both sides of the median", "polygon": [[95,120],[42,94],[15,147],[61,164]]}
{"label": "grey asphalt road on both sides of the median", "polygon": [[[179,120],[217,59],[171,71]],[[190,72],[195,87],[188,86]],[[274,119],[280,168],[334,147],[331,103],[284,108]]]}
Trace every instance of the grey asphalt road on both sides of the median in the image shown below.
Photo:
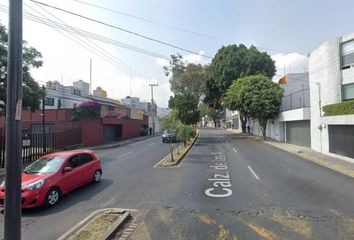
{"label": "grey asphalt road on both sides of the median", "polygon": [[103,181],[24,211],[23,239],[56,239],[104,207],[139,210],[132,240],[353,239],[350,177],[220,129],[202,129],[180,167],[154,168],[167,153],[159,137],[97,151]]}

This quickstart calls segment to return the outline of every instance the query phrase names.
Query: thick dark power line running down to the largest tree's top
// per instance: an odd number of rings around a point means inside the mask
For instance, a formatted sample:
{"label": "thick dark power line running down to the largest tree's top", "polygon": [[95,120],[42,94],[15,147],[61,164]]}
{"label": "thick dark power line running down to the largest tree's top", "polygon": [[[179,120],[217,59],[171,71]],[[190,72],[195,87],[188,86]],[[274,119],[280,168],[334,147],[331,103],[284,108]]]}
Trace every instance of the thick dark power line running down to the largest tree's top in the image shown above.
{"label": "thick dark power line running down to the largest tree's top", "polygon": [[73,16],[76,16],[76,17],[80,17],[80,18],[83,18],[83,19],[86,19],[86,20],[89,20],[89,21],[92,21],[92,22],[95,22],[95,23],[99,23],[99,24],[105,25],[107,27],[114,28],[114,29],[129,33],[129,34],[132,34],[132,35],[135,35],[135,36],[138,36],[138,37],[141,37],[141,38],[153,41],[153,42],[157,42],[157,43],[160,43],[160,44],[163,44],[163,45],[166,45],[166,46],[169,46],[169,47],[172,47],[172,48],[184,51],[184,52],[192,53],[192,54],[199,55],[199,56],[205,57],[205,58],[210,58],[210,59],[213,58],[213,57],[210,57],[210,56],[207,56],[207,55],[204,55],[204,54],[197,53],[195,51],[188,50],[188,49],[183,48],[183,47],[179,47],[179,46],[171,44],[171,43],[167,43],[167,42],[155,39],[155,38],[151,38],[151,37],[145,36],[143,34],[140,34],[140,33],[137,33],[137,32],[133,32],[133,31],[130,31],[130,30],[127,30],[127,29],[124,29],[124,28],[109,24],[109,23],[105,23],[105,22],[102,22],[100,20],[89,18],[89,17],[83,16],[81,14],[74,13],[74,12],[59,8],[59,7],[55,7],[55,6],[52,6],[52,5],[43,3],[43,2],[38,2],[38,1],[35,1],[35,0],[31,0],[31,1],[34,2],[34,3],[37,3],[37,4],[41,4],[41,5],[45,6],[45,7],[49,7],[49,8],[58,10],[58,11],[62,11],[62,12],[68,13],[70,15],[73,15]]}

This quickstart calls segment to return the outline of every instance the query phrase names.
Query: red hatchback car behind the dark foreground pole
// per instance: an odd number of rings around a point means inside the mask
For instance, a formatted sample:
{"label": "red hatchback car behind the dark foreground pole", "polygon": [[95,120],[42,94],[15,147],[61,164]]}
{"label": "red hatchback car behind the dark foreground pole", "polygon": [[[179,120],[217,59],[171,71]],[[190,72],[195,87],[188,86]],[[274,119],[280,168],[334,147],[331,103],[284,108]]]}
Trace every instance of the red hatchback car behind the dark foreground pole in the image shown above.
{"label": "red hatchback car behind the dark foreground pole", "polygon": [[[55,205],[60,196],[86,183],[101,180],[101,162],[91,150],[73,150],[45,155],[22,173],[22,208]],[[0,185],[0,206],[5,185]]]}

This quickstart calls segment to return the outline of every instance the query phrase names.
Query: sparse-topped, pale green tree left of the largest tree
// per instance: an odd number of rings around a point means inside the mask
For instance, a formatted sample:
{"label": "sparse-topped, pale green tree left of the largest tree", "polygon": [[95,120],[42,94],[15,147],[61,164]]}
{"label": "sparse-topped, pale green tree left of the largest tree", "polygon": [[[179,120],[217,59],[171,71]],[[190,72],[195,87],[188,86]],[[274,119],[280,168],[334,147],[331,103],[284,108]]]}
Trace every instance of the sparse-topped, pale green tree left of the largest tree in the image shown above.
{"label": "sparse-topped, pale green tree left of the largest tree", "polygon": [[202,95],[207,70],[201,64],[186,64],[180,54],[171,55],[169,66],[164,67],[165,75],[170,77],[171,91],[174,94],[189,93]]}

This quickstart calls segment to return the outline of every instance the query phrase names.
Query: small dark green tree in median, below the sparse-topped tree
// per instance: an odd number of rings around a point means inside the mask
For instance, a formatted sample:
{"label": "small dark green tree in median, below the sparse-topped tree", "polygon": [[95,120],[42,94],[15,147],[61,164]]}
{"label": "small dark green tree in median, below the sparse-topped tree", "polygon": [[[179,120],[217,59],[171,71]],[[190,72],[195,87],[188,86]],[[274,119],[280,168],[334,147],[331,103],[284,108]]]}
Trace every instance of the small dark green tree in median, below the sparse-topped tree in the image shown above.
{"label": "small dark green tree in median, below the sparse-topped tree", "polygon": [[177,119],[184,124],[190,125],[199,121],[198,103],[197,96],[190,93],[180,93],[170,97],[168,107],[176,110]]}

